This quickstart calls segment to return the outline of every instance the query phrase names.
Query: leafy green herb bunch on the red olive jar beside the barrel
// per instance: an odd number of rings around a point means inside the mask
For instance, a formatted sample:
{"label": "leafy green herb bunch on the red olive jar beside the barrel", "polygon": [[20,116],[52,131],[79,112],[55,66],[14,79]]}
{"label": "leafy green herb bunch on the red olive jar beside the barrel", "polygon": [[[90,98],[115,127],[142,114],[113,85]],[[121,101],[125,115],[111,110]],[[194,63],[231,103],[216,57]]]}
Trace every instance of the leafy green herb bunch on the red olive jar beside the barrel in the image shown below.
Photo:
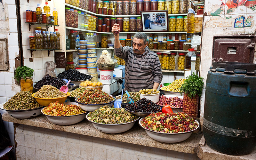
{"label": "leafy green herb bunch on the red olive jar beside the barrel", "polygon": [[193,73],[191,76],[188,76],[185,82],[180,87],[180,94],[188,94],[188,97],[192,98],[198,95],[202,95],[202,90],[204,86],[203,77],[197,76]]}

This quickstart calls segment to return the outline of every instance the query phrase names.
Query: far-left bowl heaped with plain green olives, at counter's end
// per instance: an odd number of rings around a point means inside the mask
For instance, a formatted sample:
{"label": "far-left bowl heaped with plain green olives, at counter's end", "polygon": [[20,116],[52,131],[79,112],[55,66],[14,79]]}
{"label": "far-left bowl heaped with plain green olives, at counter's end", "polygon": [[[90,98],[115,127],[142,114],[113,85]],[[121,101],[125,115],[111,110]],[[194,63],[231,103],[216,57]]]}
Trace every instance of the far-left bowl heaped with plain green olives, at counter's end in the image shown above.
{"label": "far-left bowl heaped with plain green olives, at counter's end", "polygon": [[7,102],[0,104],[0,109],[7,111],[14,118],[26,119],[41,114],[40,110],[44,107],[36,102],[28,91],[16,93]]}

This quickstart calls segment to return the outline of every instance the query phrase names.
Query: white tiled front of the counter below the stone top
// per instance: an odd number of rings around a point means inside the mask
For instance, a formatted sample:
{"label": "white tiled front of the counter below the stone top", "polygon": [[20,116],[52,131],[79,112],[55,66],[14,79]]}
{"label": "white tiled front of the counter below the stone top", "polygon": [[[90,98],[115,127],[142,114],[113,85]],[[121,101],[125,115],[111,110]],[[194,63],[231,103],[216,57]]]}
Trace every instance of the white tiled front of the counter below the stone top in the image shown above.
{"label": "white tiled front of the counter below the stone top", "polygon": [[198,160],[196,154],[145,147],[20,124],[17,160]]}

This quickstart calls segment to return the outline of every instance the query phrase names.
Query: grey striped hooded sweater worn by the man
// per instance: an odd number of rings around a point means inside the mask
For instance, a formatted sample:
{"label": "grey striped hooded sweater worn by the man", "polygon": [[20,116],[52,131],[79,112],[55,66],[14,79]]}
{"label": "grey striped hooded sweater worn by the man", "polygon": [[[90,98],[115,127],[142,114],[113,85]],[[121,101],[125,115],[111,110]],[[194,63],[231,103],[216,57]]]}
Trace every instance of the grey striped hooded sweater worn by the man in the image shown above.
{"label": "grey striped hooded sweater worn by the man", "polygon": [[129,46],[114,48],[117,57],[125,60],[125,90],[139,92],[153,88],[154,82],[161,83],[163,73],[157,54],[148,46],[145,52],[137,55]]}

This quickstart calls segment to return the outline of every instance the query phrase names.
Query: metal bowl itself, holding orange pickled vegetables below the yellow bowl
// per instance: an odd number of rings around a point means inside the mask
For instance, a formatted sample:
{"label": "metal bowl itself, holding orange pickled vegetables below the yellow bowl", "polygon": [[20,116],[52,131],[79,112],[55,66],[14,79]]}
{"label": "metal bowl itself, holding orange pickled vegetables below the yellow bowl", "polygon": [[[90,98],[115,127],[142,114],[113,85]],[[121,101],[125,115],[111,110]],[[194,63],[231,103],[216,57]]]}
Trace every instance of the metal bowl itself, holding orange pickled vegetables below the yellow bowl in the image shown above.
{"label": "metal bowl itself, holding orange pickled vegetables below the yellow bowl", "polygon": [[[77,103],[74,103],[74,102],[69,102],[69,103],[64,103],[65,105],[77,105]],[[45,107],[46,108],[46,107]],[[58,124],[58,125],[71,125],[71,124],[76,124],[78,122],[81,122],[86,114],[88,112],[84,112],[82,114],[79,114],[79,115],[72,115],[72,116],[49,116],[49,115],[46,115],[43,113],[43,109],[41,109],[41,113],[42,115],[46,116],[47,119],[52,122],[53,124]]]}

